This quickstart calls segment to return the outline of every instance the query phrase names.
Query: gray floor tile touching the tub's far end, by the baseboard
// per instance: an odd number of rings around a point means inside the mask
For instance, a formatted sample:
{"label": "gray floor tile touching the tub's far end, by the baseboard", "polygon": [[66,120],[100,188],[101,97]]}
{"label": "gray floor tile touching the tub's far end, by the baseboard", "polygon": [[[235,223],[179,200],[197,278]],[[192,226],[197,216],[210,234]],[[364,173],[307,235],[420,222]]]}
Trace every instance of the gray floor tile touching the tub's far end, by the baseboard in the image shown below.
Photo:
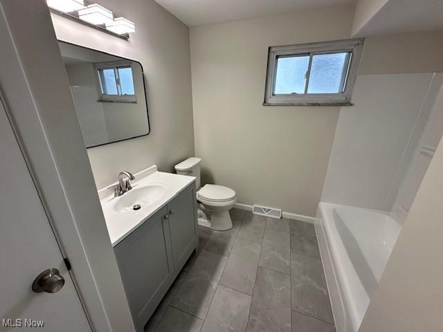
{"label": "gray floor tile touching the tub's far end, by the baseboard", "polygon": [[291,252],[320,257],[316,230],[313,224],[291,220]]}

